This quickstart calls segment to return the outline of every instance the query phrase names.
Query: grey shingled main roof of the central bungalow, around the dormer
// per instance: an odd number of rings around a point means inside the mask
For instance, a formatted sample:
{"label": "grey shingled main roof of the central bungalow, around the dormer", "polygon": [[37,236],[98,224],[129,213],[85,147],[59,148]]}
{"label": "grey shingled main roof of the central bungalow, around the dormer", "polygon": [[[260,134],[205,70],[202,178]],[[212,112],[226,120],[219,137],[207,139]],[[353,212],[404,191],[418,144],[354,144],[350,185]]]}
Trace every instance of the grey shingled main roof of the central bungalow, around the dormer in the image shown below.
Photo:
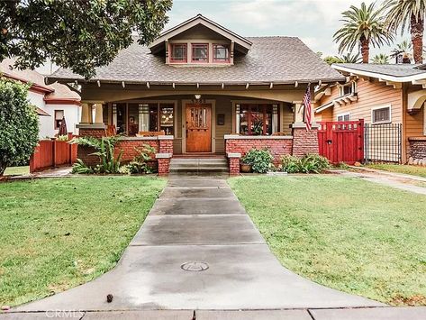
{"label": "grey shingled main roof of the central bungalow, around the dormer", "polygon": [[[127,84],[172,85],[184,84],[300,84],[344,81],[340,73],[322,61],[304,42],[295,37],[249,37],[252,43],[247,55],[234,58],[229,67],[174,67],[163,57],[150,53],[150,49],[133,41],[119,52],[108,66],[96,68],[90,81]],[[59,69],[48,81],[74,82],[84,78],[69,69]]]}

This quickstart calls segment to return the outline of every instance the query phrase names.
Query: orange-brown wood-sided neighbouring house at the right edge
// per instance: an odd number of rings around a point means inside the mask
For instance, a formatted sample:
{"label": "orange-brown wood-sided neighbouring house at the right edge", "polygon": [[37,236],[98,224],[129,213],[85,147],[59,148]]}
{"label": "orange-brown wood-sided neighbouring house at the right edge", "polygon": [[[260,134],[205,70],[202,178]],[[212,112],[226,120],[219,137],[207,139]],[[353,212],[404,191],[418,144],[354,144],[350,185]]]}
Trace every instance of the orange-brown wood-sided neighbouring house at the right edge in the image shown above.
{"label": "orange-brown wood-sided neighbouring house at the right edge", "polygon": [[[315,119],[364,119],[373,132],[401,125],[402,162],[426,165],[426,71],[410,64],[334,64],[345,83],[322,86],[315,94]],[[381,130],[381,129],[380,129]],[[376,139],[397,139],[387,129]],[[387,134],[387,135],[386,135]],[[367,143],[367,141],[366,141]],[[385,148],[387,146],[384,146]],[[377,151],[378,152],[378,151]],[[393,160],[384,157],[376,160]]]}

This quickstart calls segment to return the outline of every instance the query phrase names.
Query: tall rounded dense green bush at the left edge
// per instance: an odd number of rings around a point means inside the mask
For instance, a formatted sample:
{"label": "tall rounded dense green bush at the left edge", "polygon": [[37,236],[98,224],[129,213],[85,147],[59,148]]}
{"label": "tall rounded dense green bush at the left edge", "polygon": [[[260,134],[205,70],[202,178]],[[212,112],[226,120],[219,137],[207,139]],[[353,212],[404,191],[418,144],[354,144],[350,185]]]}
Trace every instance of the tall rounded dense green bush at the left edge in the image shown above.
{"label": "tall rounded dense green bush at the left edge", "polygon": [[0,177],[14,162],[30,159],[39,142],[39,117],[27,100],[28,88],[0,78]]}

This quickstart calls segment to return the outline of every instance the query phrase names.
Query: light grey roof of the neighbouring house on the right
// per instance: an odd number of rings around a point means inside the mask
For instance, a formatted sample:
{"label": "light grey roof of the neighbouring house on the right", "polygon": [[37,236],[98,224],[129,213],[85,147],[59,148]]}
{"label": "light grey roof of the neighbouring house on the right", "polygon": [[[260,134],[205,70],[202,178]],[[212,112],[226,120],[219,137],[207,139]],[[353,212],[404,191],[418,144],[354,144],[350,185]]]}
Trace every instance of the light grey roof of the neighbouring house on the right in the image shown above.
{"label": "light grey roof of the neighbouring house on the right", "polygon": [[334,63],[331,67],[340,72],[392,82],[412,82],[426,78],[426,70],[412,64]]}

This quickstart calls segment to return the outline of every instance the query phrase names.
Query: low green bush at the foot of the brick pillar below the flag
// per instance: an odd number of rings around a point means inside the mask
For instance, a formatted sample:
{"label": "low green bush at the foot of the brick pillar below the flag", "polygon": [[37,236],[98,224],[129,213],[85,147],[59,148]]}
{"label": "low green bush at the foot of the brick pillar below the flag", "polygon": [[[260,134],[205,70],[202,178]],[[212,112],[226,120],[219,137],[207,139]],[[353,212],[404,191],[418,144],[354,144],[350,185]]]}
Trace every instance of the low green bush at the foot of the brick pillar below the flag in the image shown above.
{"label": "low green bush at the foot of the brick pillar below the flag", "polygon": [[330,162],[318,154],[306,154],[302,158],[285,155],[281,158],[281,166],[288,173],[320,173],[330,168]]}

